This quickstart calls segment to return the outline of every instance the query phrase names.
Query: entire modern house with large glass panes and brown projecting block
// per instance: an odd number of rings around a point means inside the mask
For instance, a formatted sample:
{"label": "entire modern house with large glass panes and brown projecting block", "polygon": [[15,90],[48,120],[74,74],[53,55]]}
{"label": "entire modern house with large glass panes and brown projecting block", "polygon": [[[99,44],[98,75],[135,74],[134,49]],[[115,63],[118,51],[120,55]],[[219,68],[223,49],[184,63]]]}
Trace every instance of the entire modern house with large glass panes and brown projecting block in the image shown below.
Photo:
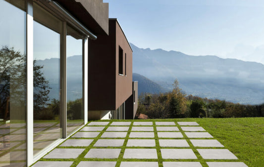
{"label": "entire modern house with large glass panes and brown projecting block", "polygon": [[132,50],[108,3],[0,0],[0,16],[1,167],[32,165],[94,115],[133,118]]}

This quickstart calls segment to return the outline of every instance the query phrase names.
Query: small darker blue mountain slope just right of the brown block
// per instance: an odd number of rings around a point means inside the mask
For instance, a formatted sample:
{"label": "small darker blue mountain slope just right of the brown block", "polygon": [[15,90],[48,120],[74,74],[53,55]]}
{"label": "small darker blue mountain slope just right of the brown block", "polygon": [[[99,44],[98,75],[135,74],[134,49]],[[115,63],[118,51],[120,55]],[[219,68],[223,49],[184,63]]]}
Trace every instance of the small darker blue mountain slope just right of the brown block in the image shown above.
{"label": "small darker blue mountain slope just right of the brown block", "polygon": [[138,94],[141,93],[161,93],[167,90],[162,88],[156,82],[153,82],[149,78],[143,75],[133,73],[133,81],[138,81]]}

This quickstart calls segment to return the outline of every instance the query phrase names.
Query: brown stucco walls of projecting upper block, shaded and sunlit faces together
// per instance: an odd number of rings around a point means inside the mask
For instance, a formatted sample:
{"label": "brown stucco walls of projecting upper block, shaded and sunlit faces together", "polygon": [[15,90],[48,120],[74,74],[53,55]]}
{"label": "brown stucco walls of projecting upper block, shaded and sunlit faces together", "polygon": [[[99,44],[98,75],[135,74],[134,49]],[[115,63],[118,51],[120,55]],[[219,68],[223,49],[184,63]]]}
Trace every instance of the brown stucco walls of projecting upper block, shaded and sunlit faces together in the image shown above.
{"label": "brown stucco walls of projecting upper block, shaded and sunlit faces together", "polygon": [[[118,75],[119,46],[127,76]],[[109,20],[109,36],[89,40],[88,54],[88,110],[116,110],[132,95],[132,50],[116,19]]]}

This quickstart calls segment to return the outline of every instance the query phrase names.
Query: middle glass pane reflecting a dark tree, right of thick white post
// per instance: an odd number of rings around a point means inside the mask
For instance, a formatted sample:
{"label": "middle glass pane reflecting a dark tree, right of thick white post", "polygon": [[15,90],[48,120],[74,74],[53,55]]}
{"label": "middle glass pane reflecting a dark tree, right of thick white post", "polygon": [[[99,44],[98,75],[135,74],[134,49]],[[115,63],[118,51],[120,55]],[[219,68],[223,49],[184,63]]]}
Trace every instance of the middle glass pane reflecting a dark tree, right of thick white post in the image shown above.
{"label": "middle glass pane reflecting a dark tree, right of thick white post", "polygon": [[[47,20],[39,11],[45,14],[34,3],[34,155],[61,138],[60,34],[42,24]],[[48,13],[47,18],[58,22]]]}

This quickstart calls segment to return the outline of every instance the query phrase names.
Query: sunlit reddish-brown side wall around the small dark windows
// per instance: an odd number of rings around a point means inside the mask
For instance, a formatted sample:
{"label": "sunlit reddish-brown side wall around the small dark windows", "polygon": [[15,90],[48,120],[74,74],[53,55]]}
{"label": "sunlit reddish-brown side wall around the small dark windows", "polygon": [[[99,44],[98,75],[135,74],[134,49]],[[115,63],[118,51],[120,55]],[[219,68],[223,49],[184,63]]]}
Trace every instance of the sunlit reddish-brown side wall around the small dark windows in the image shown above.
{"label": "sunlit reddish-brown side wall around the small dark windows", "polygon": [[[110,19],[109,22],[115,22],[116,26],[116,108],[119,107],[132,95],[132,50],[130,45],[116,19]],[[118,58],[119,46],[123,50],[123,76],[119,75]],[[126,54],[126,76],[125,76],[125,54]]]}

